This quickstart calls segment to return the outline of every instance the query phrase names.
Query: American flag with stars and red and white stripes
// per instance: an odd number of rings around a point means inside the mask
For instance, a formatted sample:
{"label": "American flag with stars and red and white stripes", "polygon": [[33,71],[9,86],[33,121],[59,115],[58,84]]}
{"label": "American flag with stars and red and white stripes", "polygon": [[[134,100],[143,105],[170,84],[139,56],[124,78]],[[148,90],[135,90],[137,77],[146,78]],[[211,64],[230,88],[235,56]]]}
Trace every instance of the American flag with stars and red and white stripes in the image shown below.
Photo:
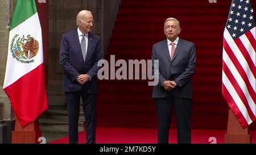
{"label": "American flag with stars and red and white stripes", "polygon": [[243,128],[256,119],[253,13],[249,0],[233,0],[223,38],[222,95]]}

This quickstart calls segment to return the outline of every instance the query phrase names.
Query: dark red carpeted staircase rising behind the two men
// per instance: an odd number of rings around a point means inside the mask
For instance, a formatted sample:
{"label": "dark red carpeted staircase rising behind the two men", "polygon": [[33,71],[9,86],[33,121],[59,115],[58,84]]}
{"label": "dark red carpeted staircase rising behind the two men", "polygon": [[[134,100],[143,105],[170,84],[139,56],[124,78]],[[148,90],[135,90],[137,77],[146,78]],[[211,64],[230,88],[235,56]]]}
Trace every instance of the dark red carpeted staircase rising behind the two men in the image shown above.
{"label": "dark red carpeted staircase rising behind the two men", "polygon": [[[221,94],[222,36],[230,4],[218,0],[122,0],[105,58],[110,60],[110,55],[115,55],[115,61],[150,59],[152,44],[166,39],[164,20],[180,20],[180,37],[193,41],[197,52],[192,127],[226,128],[229,108]],[[97,126],[156,127],[151,93],[147,80],[100,81]]]}

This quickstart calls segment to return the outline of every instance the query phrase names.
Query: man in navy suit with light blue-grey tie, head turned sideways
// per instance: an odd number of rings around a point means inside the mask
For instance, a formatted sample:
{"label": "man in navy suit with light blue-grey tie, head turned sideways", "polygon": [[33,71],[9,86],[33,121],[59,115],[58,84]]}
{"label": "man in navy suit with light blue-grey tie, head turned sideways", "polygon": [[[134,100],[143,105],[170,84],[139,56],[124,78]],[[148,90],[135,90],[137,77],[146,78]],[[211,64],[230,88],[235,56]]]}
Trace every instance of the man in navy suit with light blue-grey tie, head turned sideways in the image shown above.
{"label": "man in navy suit with light blue-grey tie, head turned sideways", "polygon": [[68,106],[69,143],[78,143],[80,98],[86,119],[86,143],[96,143],[97,66],[102,59],[100,37],[90,32],[93,15],[77,14],[76,30],[65,33],[60,44],[60,64],[64,70],[64,91]]}

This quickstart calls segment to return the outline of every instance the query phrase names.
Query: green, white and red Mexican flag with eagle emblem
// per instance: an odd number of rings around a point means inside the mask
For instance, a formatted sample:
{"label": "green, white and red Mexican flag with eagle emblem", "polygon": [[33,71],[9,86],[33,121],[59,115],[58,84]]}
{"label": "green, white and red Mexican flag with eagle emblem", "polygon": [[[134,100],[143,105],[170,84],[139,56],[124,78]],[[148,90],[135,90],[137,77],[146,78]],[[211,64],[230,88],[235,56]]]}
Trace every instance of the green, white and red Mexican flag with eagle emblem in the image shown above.
{"label": "green, white and red Mexican flag with eagle emblem", "polygon": [[43,62],[42,31],[35,0],[16,0],[3,90],[23,128],[48,109]]}

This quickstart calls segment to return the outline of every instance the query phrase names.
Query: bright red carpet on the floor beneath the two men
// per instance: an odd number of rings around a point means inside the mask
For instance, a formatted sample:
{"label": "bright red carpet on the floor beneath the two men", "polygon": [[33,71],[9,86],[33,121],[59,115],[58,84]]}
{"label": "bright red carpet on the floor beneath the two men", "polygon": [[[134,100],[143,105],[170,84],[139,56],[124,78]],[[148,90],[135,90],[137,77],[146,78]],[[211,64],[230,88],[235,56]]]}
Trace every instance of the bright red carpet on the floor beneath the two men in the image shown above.
{"label": "bright red carpet on the floor beneath the two men", "polygon": [[[177,130],[170,130],[169,143],[177,143]],[[209,144],[210,137],[216,137],[217,144],[224,143],[225,130],[219,129],[193,129],[192,144]],[[250,132],[253,143],[256,144],[256,131]],[[68,137],[51,141],[50,144],[67,144]],[[79,143],[85,143],[85,132],[79,132]],[[97,128],[97,144],[156,144],[156,128]]]}

